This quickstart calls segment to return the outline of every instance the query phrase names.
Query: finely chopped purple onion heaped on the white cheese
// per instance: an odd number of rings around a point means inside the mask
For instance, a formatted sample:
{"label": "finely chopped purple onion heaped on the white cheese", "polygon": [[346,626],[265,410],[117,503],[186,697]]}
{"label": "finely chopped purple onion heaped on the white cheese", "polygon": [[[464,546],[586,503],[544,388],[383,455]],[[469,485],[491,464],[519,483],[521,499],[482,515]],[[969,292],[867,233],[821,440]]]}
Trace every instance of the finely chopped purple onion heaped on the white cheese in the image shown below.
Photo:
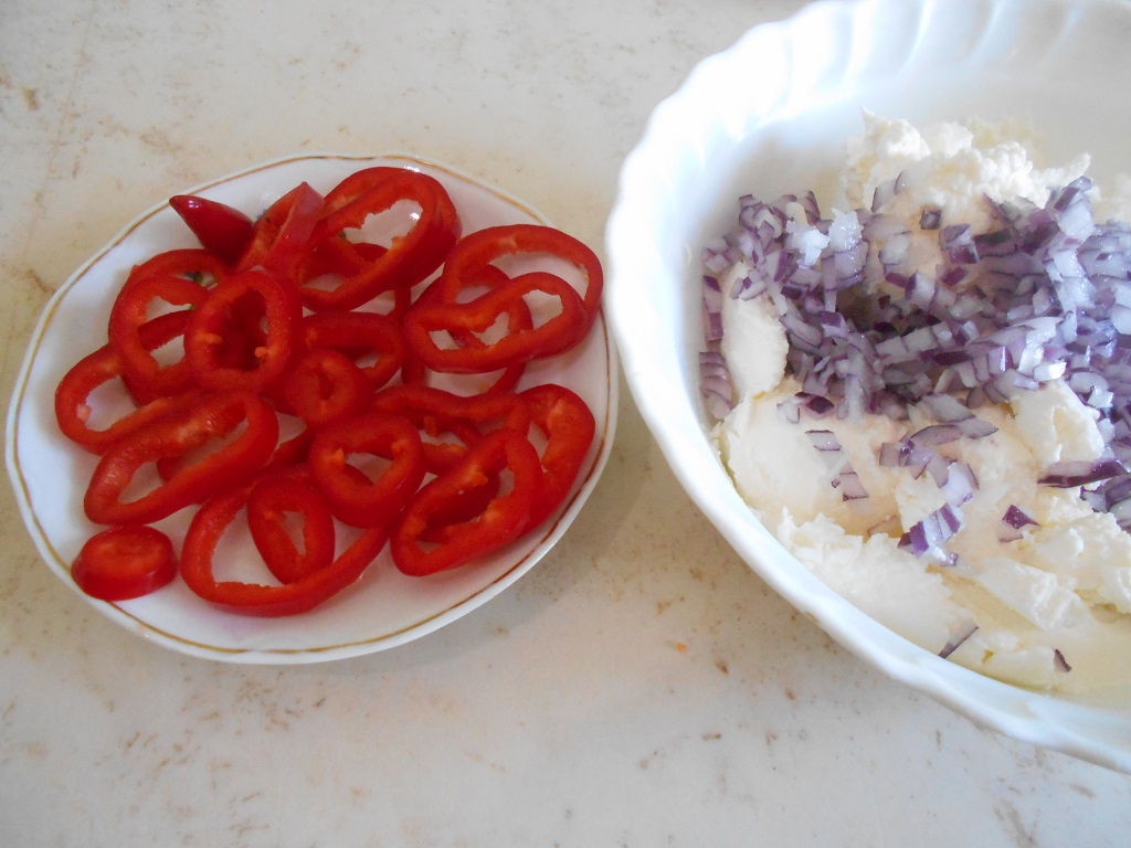
{"label": "finely chopped purple onion heaped on the white cheese", "polygon": [[[878,211],[906,179],[878,187],[871,210],[831,218],[821,217],[812,192],[769,202],[741,198],[736,230],[703,250],[711,349],[720,297],[767,295],[789,341],[787,370],[803,387],[779,405],[782,415],[906,421],[908,407],[922,404],[935,423],[881,447],[879,460],[930,474],[947,488],[950,509],[976,481],[934,449],[992,434],[975,409],[1063,379],[1098,413],[1108,451],[1095,464],[1054,465],[1039,482],[1083,487],[1093,508],[1131,529],[1131,226],[1096,224],[1090,182],[1081,178],[1043,206],[987,201],[994,224],[986,233],[944,224],[934,207],[921,210],[913,232]],[[941,251],[931,271],[913,265],[923,237],[938,239]],[[711,291],[740,261],[752,270],[737,276],[733,291]],[[725,415],[732,403],[725,362],[709,357],[701,370],[708,407]],[[956,513],[940,510],[908,533],[908,545],[933,551],[956,531],[955,521]]]}

